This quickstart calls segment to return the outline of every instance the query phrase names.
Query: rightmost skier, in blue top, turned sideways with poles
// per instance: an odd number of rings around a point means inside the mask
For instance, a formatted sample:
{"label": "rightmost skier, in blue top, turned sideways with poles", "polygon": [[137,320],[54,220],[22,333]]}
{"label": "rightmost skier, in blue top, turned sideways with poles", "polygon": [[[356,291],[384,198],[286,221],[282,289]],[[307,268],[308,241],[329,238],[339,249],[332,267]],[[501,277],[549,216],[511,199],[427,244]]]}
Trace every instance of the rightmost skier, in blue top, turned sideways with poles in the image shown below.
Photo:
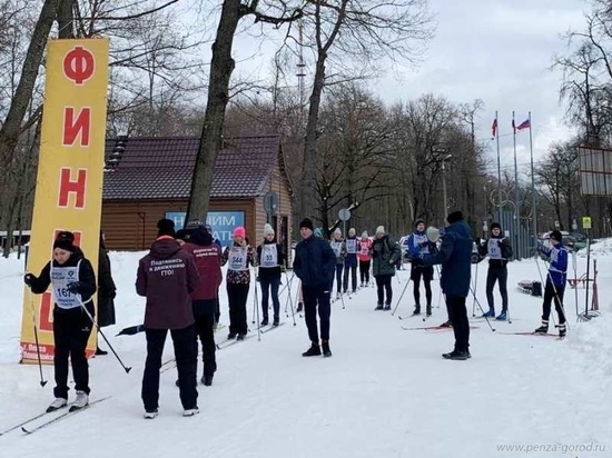
{"label": "rightmost skier, in blue top, turned sideways with poles", "polygon": [[550,259],[544,301],[542,303],[542,326],[535,333],[549,332],[549,317],[551,316],[551,302],[554,298],[554,308],[559,315],[559,337],[565,337],[565,312],[563,310],[563,292],[567,278],[567,249],[563,246],[563,236],[559,230],[553,230],[550,236],[551,248],[539,246],[540,252]]}

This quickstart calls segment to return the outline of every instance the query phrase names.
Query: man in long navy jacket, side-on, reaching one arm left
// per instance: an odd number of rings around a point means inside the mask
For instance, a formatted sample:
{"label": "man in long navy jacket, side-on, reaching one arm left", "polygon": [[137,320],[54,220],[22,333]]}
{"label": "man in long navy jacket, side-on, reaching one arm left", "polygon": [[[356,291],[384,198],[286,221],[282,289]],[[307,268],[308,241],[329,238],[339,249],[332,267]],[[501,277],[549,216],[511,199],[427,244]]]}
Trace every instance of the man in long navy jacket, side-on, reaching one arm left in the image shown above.
{"label": "man in long navy jacket, side-on, reaching one arm left", "polygon": [[[470,321],[465,298],[470,293],[472,275],[472,230],[463,220],[461,211],[446,217],[447,227],[440,251],[427,259],[414,258],[413,266],[442,265],[442,291],[446,296],[446,308],[455,333],[455,349],[443,354],[445,359],[465,360],[470,355]],[[433,240],[432,240],[433,241]]]}

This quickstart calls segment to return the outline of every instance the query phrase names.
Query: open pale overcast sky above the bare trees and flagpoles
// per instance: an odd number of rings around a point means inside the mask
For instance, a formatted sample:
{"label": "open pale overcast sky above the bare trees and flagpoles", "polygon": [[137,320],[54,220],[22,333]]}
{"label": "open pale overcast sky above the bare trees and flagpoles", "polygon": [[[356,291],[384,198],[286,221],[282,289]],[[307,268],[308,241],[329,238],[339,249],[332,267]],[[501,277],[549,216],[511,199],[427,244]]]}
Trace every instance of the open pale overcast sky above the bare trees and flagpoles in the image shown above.
{"label": "open pale overcast sky above the bare trees and flagpoles", "polygon": [[[435,38],[422,63],[399,67],[399,74],[368,87],[386,102],[433,92],[453,102],[484,101],[477,140],[488,149],[490,170],[496,173],[496,149],[491,141],[495,110],[500,116],[502,166],[513,171],[511,116],[516,125],[532,112],[534,160],[550,143],[572,136],[559,100],[560,70],[550,70],[556,54],[567,49],[563,33],[584,28],[585,0],[430,0],[436,17]],[[216,18],[215,18],[216,19]],[[210,32],[216,20],[209,17]],[[215,23],[213,23],[215,21]],[[214,26],[214,27],[213,27]],[[247,20],[235,41],[236,76],[264,78],[275,44],[261,43],[257,26]],[[246,32],[245,32],[246,30]],[[269,27],[268,27],[269,30]],[[389,72],[392,73],[392,72]],[[529,131],[517,135],[519,169],[529,173]],[[523,173],[524,172],[524,173]]]}

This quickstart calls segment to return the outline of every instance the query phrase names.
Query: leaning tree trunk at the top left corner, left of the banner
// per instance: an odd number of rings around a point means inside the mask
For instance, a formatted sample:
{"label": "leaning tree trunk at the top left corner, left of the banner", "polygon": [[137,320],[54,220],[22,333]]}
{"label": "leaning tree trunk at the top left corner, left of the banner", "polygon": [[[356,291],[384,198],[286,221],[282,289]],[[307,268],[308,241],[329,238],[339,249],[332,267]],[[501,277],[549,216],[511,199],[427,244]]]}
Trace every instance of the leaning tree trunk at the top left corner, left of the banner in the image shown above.
{"label": "leaning tree trunk at the top left corner, left of the banner", "polygon": [[21,123],[28,111],[32,98],[36,79],[45,48],[47,38],[51,31],[51,27],[56,19],[58,4],[60,0],[46,0],[40,16],[34,26],[32,38],[26,53],[19,84],[12,96],[11,106],[2,128],[0,128],[0,161],[1,163],[11,163],[19,135],[21,133]]}

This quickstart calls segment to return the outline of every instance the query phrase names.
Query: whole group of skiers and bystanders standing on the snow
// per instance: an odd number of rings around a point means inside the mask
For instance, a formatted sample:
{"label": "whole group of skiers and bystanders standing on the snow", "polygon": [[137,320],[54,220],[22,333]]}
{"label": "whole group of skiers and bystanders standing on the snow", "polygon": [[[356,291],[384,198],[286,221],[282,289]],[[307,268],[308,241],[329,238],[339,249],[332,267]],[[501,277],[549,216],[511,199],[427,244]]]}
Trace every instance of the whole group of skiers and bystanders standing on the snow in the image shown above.
{"label": "whole group of skiers and bystanders standing on the snow", "polygon": [[[470,326],[465,307],[471,289],[471,263],[473,245],[481,259],[488,257],[486,298],[488,311],[483,317],[495,317],[493,288],[500,285],[502,310],[496,317],[507,319],[507,261],[512,247],[499,223],[492,225],[486,240],[473,239],[468,225],[461,211],[446,217],[446,228],[442,241],[425,229],[425,221],[415,221],[414,231],[407,238],[408,260],[412,265],[411,280],[415,300],[414,315],[421,313],[421,280],[425,287],[425,313],[432,315],[432,288],[434,265],[442,265],[441,288],[445,295],[448,321],[455,335],[453,351],[444,354],[446,359],[465,360],[470,355]],[[246,240],[243,227],[234,230],[234,240],[221,251],[220,243],[213,237],[213,230],[201,221],[191,221],[185,233],[177,238],[174,222],[161,219],[157,225],[157,238],[150,251],[139,261],[136,289],[147,298],[144,330],[147,338],[147,359],[142,377],[142,401],[145,417],[155,418],[158,414],[159,377],[161,355],[168,331],[170,331],[178,370],[177,386],[185,416],[198,414],[197,407],[197,340],[203,349],[203,377],[205,386],[213,384],[217,370],[215,358],[215,327],[219,315],[219,286],[223,280],[221,267],[227,263],[226,287],[229,308],[228,340],[245,339],[248,332],[246,302],[250,288],[250,268],[258,267],[256,280],[261,288],[263,319],[260,326],[268,326],[268,302],[272,300],[273,323],[279,326],[278,290],[287,256],[283,246],[276,242],[272,226],[264,227],[264,240],[254,250]],[[334,278],[336,295],[357,290],[356,268],[359,266],[361,287],[369,283],[369,271],[376,281],[376,310],[389,310],[393,299],[392,278],[403,253],[399,243],[386,233],[385,228],[376,228],[373,239],[364,231],[361,238],[349,229],[343,239],[342,231],[335,230],[332,240],[323,238],[314,229],[312,220],[304,219],[299,225],[302,241],[295,249],[294,273],[299,279],[305,322],[310,347],[305,357],[330,357],[329,317],[330,296]],[[436,233],[440,233],[436,230]],[[567,250],[559,231],[551,232],[551,246],[537,247],[539,252],[550,258],[551,263],[544,289],[542,326],[535,332],[546,333],[551,303],[555,301],[559,313],[560,336],[565,335],[563,292],[566,280]],[[344,276],[343,276],[344,273]],[[288,278],[288,277],[287,277]],[[45,292],[49,286],[55,301],[55,379],[56,399],[49,411],[68,404],[68,365],[72,365],[77,397],[71,409],[88,405],[89,371],[86,346],[95,321],[92,297],[97,281],[91,263],[75,245],[71,232],[59,232],[53,242],[52,260],[36,277],[27,273],[26,285],[33,293]],[[112,288],[115,288],[112,283]],[[115,289],[112,289],[112,295]],[[319,323],[317,323],[317,313]],[[113,317],[112,317],[113,321]],[[320,329],[319,329],[319,326]],[[320,336],[320,340],[319,340]],[[101,350],[98,350],[101,351]],[[101,351],[100,354],[103,354]]]}

